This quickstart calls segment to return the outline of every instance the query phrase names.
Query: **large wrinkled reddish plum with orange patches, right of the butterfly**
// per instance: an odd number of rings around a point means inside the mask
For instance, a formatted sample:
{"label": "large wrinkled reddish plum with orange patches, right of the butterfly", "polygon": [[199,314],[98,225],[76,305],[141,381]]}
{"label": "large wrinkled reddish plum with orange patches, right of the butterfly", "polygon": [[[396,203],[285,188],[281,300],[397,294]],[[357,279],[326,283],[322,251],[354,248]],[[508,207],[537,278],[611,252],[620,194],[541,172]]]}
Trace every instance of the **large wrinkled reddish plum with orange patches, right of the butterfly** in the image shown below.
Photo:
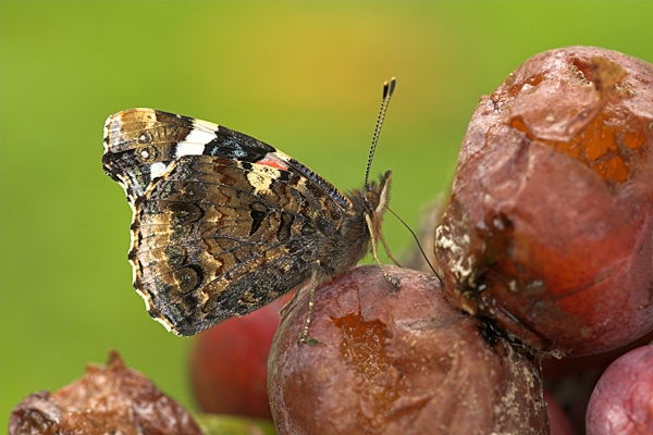
{"label": "large wrinkled reddish plum with orange patches, right of the butterfly", "polygon": [[652,65],[570,47],[518,67],[472,116],[436,233],[452,302],[541,355],[653,330],[652,145]]}

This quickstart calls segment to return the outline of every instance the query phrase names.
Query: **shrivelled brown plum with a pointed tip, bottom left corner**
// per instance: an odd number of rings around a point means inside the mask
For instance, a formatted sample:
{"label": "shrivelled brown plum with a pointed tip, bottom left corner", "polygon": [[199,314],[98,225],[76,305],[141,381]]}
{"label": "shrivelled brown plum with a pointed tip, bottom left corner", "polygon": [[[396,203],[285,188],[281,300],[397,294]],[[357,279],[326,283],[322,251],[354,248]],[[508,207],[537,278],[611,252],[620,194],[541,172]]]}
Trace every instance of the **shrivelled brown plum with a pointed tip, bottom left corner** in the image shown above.
{"label": "shrivelled brown plum with a pointed tip, bottom left corner", "polygon": [[54,394],[38,391],[12,411],[9,434],[201,435],[190,414],[150,380],[109,353],[81,380]]}

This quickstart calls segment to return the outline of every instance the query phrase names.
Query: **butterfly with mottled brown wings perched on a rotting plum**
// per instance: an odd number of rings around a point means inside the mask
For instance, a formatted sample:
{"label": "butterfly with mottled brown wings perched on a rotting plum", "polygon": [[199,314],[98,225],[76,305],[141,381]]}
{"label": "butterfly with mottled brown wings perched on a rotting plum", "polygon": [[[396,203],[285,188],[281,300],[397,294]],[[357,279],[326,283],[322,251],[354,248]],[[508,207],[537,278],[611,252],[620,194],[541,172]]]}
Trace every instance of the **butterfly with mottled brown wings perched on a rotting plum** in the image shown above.
{"label": "butterfly with mottled brown wings perched on a rotting plum", "polygon": [[394,86],[394,78],[384,84],[365,186],[348,194],[221,125],[153,109],[109,116],[102,166],[133,211],[128,260],[149,314],[193,335],[306,283],[312,300],[370,246],[381,264],[392,172],[378,183],[368,175]]}

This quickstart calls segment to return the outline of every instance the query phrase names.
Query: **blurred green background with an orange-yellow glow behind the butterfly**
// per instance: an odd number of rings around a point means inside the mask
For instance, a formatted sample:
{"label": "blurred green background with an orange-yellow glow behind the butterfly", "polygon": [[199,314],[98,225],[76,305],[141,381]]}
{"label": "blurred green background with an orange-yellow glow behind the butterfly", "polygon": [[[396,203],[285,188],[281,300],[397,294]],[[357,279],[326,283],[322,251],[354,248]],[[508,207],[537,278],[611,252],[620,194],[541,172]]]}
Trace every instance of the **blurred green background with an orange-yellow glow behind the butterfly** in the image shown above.
{"label": "blurred green background with an orange-yellow glow behind the butterfly", "polygon": [[[653,2],[0,3],[0,431],[11,408],[110,348],[182,403],[193,339],[147,315],[131,212],[102,126],[152,107],[264,140],[360,187],[381,83],[397,89],[373,172],[414,227],[445,189],[478,99],[527,58],[592,45],[653,61]],[[394,217],[396,253],[410,238]]]}

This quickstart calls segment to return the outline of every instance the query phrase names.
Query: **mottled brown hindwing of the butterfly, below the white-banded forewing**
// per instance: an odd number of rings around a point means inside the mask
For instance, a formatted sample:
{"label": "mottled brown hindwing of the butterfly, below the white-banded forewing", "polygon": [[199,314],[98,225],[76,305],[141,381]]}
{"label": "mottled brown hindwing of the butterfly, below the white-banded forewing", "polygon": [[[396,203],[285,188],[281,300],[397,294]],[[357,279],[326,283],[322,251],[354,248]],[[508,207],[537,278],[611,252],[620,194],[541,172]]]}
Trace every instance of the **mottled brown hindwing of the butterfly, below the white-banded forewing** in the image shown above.
{"label": "mottled brown hindwing of the butterfly, below the white-banded forewing", "polygon": [[[309,278],[318,247],[343,216],[305,188],[306,178],[243,165],[184,157],[134,220],[135,286],[150,314],[182,335],[251,312]],[[269,187],[257,189],[251,174]],[[321,228],[318,211],[329,216]]]}

